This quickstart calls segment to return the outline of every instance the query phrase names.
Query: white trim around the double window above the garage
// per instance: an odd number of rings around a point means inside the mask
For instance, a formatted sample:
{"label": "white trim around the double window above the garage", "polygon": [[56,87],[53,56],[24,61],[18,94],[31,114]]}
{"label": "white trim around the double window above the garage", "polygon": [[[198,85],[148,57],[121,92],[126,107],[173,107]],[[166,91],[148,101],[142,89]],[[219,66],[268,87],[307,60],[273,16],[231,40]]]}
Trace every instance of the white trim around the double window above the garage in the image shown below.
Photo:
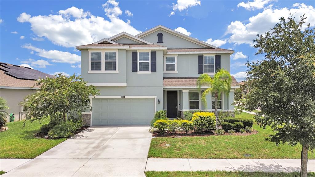
{"label": "white trim around the double window above the garage", "polygon": [[[118,50],[112,50],[112,49],[108,49],[108,50],[99,50],[99,49],[89,49],[89,71],[88,73],[119,73],[118,72]],[[102,56],[102,60],[101,60],[101,71],[91,71],[91,52],[101,52],[101,56]],[[105,71],[105,52],[116,52],[116,71]]]}

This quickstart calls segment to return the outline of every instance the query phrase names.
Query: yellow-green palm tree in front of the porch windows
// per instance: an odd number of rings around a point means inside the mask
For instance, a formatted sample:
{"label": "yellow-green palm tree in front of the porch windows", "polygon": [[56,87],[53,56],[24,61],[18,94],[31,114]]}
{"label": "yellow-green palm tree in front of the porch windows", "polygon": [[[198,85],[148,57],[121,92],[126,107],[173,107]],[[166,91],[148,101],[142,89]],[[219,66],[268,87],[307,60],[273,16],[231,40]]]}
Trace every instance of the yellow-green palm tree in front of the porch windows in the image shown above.
{"label": "yellow-green palm tree in front of the porch windows", "polygon": [[207,107],[206,95],[214,93],[215,97],[215,129],[218,129],[218,97],[221,97],[221,93],[226,92],[229,96],[231,89],[232,77],[230,73],[225,69],[220,69],[214,75],[210,77],[208,74],[201,74],[196,82],[199,91],[202,86],[208,86],[201,96],[201,101]]}

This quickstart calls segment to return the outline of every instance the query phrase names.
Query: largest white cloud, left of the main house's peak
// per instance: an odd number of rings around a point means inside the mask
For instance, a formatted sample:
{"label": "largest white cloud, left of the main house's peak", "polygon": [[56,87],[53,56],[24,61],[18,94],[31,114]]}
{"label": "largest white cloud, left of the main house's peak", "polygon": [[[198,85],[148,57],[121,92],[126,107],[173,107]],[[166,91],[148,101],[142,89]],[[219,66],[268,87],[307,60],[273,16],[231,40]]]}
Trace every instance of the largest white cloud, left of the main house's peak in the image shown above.
{"label": "largest white cloud, left of the main house's peak", "polygon": [[17,20],[29,22],[37,37],[46,37],[54,44],[64,47],[94,43],[122,31],[132,35],[141,32],[131,26],[130,21],[125,22],[118,18],[122,11],[116,1],[107,1],[103,8],[109,20],[76,7],[60,10],[58,14],[31,16],[22,13]]}

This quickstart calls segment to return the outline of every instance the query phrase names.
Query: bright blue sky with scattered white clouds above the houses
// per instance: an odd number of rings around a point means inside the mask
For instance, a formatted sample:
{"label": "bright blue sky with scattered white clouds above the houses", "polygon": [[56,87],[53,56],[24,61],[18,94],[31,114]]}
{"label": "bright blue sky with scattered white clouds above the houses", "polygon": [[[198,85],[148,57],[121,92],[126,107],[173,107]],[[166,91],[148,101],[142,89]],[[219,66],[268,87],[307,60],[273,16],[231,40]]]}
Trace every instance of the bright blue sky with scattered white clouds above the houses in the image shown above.
{"label": "bright blue sky with scattered white clouds above the houses", "polygon": [[[289,12],[315,25],[314,1],[0,1],[0,60],[54,74],[81,72],[76,45],[163,25],[223,49],[233,49],[231,74],[246,77],[252,40]],[[14,8],[12,8],[14,7]]]}

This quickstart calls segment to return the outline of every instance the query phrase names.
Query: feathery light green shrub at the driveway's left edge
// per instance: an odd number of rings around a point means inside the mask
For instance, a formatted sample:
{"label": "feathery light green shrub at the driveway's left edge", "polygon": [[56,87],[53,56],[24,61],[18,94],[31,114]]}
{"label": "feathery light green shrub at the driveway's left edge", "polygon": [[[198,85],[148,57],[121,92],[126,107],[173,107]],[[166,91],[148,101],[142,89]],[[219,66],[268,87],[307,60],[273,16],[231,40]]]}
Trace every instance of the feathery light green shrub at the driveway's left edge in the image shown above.
{"label": "feathery light green shrub at the driveway's left edge", "polygon": [[48,132],[49,138],[66,138],[72,136],[71,122],[60,122]]}

